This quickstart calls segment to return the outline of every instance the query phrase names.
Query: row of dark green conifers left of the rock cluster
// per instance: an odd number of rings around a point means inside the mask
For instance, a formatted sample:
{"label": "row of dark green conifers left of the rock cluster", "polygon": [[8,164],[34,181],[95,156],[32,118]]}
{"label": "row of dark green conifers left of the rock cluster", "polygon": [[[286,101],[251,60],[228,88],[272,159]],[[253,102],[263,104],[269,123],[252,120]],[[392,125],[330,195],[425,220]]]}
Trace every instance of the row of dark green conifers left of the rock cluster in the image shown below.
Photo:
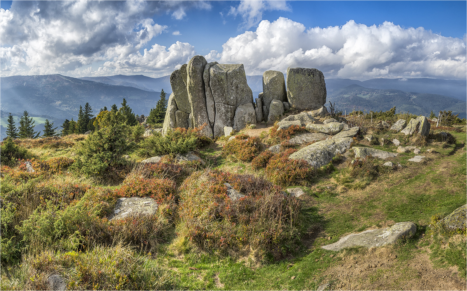
{"label": "row of dark green conifers left of the rock cluster", "polygon": [[[164,89],[161,91],[160,99],[157,101],[156,107],[152,108],[147,123],[152,126],[160,127],[164,122],[165,112],[167,110],[168,100],[166,99],[166,93]],[[78,120],[74,121],[65,119],[61,125],[60,132],[57,128],[54,128],[53,122],[48,119],[45,120],[43,134],[40,135],[40,131],[35,131],[35,121],[29,116],[28,111],[24,110],[23,115],[20,119],[20,126],[16,128],[13,115],[11,112],[8,114],[8,125],[7,125],[7,137],[12,139],[15,138],[37,138],[50,137],[50,136],[65,136],[71,134],[84,134],[88,131],[94,131],[96,129],[106,128],[108,126],[115,125],[117,123],[126,124],[129,126],[137,125],[136,115],[127,105],[127,100],[123,98],[123,102],[120,103],[121,107],[118,108],[116,104],[113,104],[110,110],[107,107],[100,108],[99,114],[94,116],[92,114],[92,108],[89,102],[86,102],[85,107],[79,106]]]}

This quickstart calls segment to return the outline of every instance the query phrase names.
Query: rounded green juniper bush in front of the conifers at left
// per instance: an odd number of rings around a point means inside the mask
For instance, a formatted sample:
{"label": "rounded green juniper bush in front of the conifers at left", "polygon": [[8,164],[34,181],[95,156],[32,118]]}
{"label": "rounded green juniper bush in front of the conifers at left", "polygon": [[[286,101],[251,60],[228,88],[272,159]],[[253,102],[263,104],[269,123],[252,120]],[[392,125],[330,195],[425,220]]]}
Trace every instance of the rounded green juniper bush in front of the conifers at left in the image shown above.
{"label": "rounded green juniper bush in front of the conifers at left", "polygon": [[130,134],[130,127],[121,124],[93,132],[77,145],[77,159],[72,168],[88,176],[106,177],[114,173],[117,166],[127,163],[123,156],[134,148],[134,142],[128,141]]}

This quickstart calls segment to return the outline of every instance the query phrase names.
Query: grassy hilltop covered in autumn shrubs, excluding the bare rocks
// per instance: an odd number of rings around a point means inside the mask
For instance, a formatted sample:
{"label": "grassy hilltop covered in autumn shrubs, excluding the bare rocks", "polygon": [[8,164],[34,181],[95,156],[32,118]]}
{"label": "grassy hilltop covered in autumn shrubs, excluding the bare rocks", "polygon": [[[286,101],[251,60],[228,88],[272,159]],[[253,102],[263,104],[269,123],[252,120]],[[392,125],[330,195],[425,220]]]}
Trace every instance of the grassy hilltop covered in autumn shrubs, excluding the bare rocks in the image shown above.
{"label": "grassy hilltop covered in autumn shrubs, excluding the bare rocks", "polygon": [[[466,230],[447,231],[440,219],[466,204],[466,125],[431,122],[426,138],[376,126],[410,117],[346,116],[360,127],[353,146],[393,152],[396,138],[419,148],[421,163],[408,161],[413,153],[383,161],[349,150],[314,169],[288,158],[307,145],[288,142],[299,126],[258,125],[231,141],[199,129],[143,137],[122,124],[3,141],[0,288],[48,290],[56,275],[70,290],[465,288]],[[267,150],[275,144],[281,153]],[[178,161],[190,151],[201,159]],[[162,158],[142,163],[151,156]],[[284,195],[296,187],[304,194]],[[110,219],[119,198],[135,196],[153,198],[156,213]],[[397,244],[321,248],[405,221],[417,233]]]}

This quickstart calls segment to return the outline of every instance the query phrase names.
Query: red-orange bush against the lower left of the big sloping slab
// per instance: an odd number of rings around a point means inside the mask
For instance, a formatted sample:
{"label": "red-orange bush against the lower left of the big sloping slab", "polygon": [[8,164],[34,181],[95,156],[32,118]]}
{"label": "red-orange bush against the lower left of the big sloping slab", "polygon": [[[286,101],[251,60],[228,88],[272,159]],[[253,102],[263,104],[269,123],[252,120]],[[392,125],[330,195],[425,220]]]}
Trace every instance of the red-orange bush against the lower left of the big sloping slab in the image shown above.
{"label": "red-orange bush against the lower left of the big sloping slab", "polygon": [[272,183],[287,187],[306,181],[315,175],[314,168],[304,160],[289,159],[296,149],[288,149],[269,159],[264,174]]}

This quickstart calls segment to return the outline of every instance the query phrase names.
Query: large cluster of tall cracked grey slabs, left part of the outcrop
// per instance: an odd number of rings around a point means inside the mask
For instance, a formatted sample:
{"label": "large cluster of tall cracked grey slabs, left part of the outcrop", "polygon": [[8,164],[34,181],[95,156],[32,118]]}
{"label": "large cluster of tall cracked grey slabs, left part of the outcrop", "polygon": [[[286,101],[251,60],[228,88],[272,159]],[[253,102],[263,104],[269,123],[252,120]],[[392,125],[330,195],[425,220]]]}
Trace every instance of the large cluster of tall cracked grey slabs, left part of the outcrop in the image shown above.
{"label": "large cluster of tall cracked grey slabs, left part of the outcrop", "polygon": [[[225,126],[237,129],[258,121],[242,64],[207,63],[203,56],[197,55],[170,75],[170,85],[173,93],[163,134],[176,127],[204,125],[201,133],[213,138],[223,136]],[[248,108],[238,110],[241,106]],[[236,112],[242,115],[237,115],[237,123]],[[243,116],[245,113],[248,115]]]}

